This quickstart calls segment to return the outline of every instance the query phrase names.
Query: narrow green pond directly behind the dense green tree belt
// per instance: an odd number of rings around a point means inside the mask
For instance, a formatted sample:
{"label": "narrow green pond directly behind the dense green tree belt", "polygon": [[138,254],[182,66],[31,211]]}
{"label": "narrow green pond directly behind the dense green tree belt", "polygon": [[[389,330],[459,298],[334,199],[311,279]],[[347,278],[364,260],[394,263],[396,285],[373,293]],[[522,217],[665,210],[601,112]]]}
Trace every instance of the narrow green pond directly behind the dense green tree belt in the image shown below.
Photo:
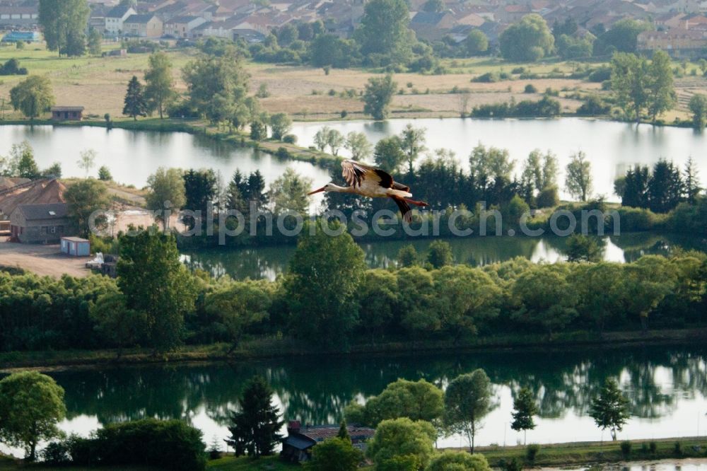
{"label": "narrow green pond directly behind the dense green tree belt", "polygon": [[[445,239],[452,246],[454,260],[475,267],[525,257],[533,262],[566,260],[566,238],[561,237],[474,237]],[[362,243],[369,267],[395,265],[397,252],[412,244],[424,255],[432,239],[392,240]],[[632,262],[641,255],[667,255],[674,248],[707,250],[707,240],[673,235],[629,233],[604,238],[604,260]],[[185,252],[184,260],[191,268],[201,268],[218,277],[228,274],[235,279],[275,277],[286,271],[295,251],[294,246],[247,249],[214,249]]]}

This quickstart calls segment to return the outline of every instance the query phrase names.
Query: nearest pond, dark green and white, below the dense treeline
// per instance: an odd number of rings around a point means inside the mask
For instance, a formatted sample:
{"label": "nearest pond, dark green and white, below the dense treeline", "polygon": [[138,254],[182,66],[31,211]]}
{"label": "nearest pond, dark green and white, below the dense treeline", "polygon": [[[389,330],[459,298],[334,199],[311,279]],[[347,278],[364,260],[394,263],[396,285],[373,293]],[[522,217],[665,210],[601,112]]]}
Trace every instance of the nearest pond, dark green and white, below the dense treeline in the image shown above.
{"label": "nearest pond, dark green and white, below the dense treeline", "polygon": [[[88,434],[110,421],[144,417],[188,419],[206,441],[228,434],[228,412],[255,373],[272,384],[285,419],[336,423],[352,400],[365,401],[397,378],[438,385],[484,368],[493,382],[495,409],[478,436],[482,445],[522,442],[510,429],[513,393],[534,390],[540,413],[528,441],[609,438],[588,416],[607,376],[619,378],[631,399],[631,420],[620,438],[707,434],[707,349],[645,347],[582,351],[503,351],[419,356],[300,357],[198,366],[144,366],[52,372],[66,390],[67,432]],[[463,446],[459,437],[443,446]]]}

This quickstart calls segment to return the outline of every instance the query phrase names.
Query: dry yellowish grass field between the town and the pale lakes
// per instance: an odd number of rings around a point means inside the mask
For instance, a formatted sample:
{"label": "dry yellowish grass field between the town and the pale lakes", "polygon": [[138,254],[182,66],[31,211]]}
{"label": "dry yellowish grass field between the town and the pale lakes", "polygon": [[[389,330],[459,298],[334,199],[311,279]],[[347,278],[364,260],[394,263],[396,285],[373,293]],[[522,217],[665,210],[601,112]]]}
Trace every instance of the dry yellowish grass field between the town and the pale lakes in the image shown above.
{"label": "dry yellowish grass field between the town and the pale lakes", "polygon": [[[117,43],[104,45],[104,49],[115,49]],[[180,68],[196,54],[195,50],[170,50],[175,66],[177,89],[185,91]],[[103,117],[108,112],[114,119],[122,114],[125,88],[129,79],[136,75],[142,78],[147,66],[148,54],[128,54],[127,57],[58,57],[55,52],[45,50],[43,45],[28,45],[24,50],[0,47],[0,62],[16,58],[30,74],[47,75],[52,80],[57,105],[83,105],[87,115]],[[395,74],[399,93],[392,103],[393,117],[447,117],[458,116],[462,110],[462,96],[467,108],[483,103],[498,103],[515,100],[538,99],[538,93],[526,94],[523,90],[532,83],[542,93],[552,88],[560,93],[563,112],[573,112],[580,101],[569,98],[574,93],[606,93],[600,84],[577,79],[533,79],[507,80],[496,83],[472,83],[470,80],[490,71],[510,72],[516,66],[524,66],[527,72],[548,74],[571,72],[577,64],[571,62],[546,61],[538,64],[510,64],[497,58],[445,59],[448,74],[421,75]],[[596,64],[595,64],[596,65]],[[695,68],[694,64],[688,70]],[[363,117],[363,103],[358,97],[366,81],[380,71],[366,69],[332,69],[327,75],[322,69],[308,66],[279,66],[274,64],[248,63],[251,76],[251,92],[265,83],[270,92],[262,99],[269,112],[287,112],[297,120],[322,120],[338,118],[346,111],[349,119]],[[22,76],[0,77],[0,101],[8,100],[10,88]],[[451,93],[452,90],[464,93]],[[347,95],[346,91],[354,93]],[[686,117],[686,100],[695,92],[707,91],[707,80],[689,77],[677,80],[680,97],[678,110],[665,116],[666,122],[674,117]],[[19,117],[6,103],[6,119]]]}

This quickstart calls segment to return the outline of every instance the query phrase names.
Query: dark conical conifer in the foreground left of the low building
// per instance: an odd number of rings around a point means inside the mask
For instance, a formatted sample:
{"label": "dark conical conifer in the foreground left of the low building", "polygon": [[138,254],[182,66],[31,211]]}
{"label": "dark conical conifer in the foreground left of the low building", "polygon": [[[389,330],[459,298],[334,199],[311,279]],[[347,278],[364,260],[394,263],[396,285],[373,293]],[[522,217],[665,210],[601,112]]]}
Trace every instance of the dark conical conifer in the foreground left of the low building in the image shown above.
{"label": "dark conical conifer in the foreground left of the low building", "polygon": [[279,420],[279,409],[272,405],[272,394],[262,376],[254,376],[245,386],[238,401],[240,412],[233,413],[233,426],[228,427],[231,436],[226,440],[236,456],[271,455],[282,438],[278,431],[284,422]]}

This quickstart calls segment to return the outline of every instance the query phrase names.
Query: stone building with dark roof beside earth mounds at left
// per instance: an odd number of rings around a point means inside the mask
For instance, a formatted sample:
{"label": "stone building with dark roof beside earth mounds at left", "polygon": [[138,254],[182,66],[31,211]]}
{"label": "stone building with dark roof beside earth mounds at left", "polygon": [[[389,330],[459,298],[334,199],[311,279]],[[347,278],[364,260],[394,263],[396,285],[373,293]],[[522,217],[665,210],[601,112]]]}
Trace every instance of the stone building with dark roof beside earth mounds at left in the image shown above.
{"label": "stone building with dark roof beside earth mounds at left", "polygon": [[75,232],[66,203],[20,204],[10,214],[11,239],[21,243],[58,243]]}

